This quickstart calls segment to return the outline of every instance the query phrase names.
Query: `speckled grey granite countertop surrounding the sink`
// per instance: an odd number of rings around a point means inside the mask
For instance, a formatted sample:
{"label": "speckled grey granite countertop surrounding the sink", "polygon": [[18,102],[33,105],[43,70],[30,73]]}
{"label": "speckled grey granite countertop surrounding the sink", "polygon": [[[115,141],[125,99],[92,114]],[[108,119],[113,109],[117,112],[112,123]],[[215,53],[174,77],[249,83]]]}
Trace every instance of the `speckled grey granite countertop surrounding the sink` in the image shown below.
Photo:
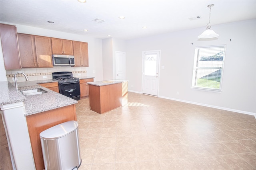
{"label": "speckled grey granite countertop surrounding the sink", "polygon": [[23,96],[20,92],[16,91],[14,83],[10,82],[0,82],[0,105],[12,104],[17,102],[24,102],[26,113],[25,116],[32,115],[35,113],[40,113],[43,111],[48,111],[56,109],[59,107],[69,106],[76,104],[77,101],[68,98],[62,94],[44,88],[39,83],[47,82],[58,82],[56,80],[38,80],[38,81],[28,81],[28,82],[18,82],[18,88],[20,91],[30,90],[36,88],[42,88],[47,91],[44,94],[38,94],[33,96]]}

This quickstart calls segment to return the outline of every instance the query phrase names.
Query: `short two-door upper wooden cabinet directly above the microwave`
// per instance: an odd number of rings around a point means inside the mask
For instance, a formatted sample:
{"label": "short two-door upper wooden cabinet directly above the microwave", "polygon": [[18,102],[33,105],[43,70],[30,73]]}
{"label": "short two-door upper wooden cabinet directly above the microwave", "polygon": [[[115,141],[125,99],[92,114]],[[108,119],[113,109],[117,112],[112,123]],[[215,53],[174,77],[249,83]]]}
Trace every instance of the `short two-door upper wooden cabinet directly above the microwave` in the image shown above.
{"label": "short two-door upper wooden cabinet directly above the microwave", "polygon": [[73,41],[66,39],[52,39],[52,54],[74,55]]}

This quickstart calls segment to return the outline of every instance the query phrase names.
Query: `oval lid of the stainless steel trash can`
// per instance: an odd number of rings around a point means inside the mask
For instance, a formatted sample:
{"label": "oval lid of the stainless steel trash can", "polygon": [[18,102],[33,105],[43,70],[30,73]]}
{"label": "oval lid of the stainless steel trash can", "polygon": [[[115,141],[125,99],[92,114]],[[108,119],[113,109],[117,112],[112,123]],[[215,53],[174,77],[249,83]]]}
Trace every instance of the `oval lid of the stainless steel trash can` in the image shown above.
{"label": "oval lid of the stainless steel trash can", "polygon": [[77,128],[78,128],[77,121],[67,121],[59,125],[50,127],[45,131],[42,131],[40,133],[40,138],[49,139],[49,140],[58,139],[60,137],[66,136],[69,133],[75,131]]}

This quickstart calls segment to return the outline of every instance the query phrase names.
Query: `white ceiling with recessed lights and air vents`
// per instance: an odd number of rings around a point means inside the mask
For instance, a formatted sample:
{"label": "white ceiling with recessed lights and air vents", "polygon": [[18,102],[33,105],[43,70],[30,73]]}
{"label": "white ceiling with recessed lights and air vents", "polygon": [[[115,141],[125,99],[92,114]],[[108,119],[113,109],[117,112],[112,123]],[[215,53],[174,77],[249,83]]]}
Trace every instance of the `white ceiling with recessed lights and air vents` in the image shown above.
{"label": "white ceiling with recessed lights and air vents", "polygon": [[[134,39],[205,27],[208,4],[215,4],[212,29],[216,24],[256,18],[256,0],[0,0],[0,21],[96,38]],[[189,20],[196,16],[200,19]],[[96,18],[104,22],[93,21]]]}

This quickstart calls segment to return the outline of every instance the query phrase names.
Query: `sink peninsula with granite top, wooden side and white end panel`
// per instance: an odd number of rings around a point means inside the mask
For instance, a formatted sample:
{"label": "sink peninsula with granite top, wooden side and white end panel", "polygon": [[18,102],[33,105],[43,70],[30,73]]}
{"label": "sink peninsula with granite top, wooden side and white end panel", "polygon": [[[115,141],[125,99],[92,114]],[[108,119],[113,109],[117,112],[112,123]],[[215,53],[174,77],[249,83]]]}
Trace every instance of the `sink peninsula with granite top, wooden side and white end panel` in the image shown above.
{"label": "sink peninsula with granite top, wooden side and white end panel", "polygon": [[76,100],[37,83],[44,82],[18,82],[19,90],[41,88],[46,93],[24,96],[12,83],[0,82],[0,107],[14,169],[44,169],[39,134],[54,125],[76,120]]}

